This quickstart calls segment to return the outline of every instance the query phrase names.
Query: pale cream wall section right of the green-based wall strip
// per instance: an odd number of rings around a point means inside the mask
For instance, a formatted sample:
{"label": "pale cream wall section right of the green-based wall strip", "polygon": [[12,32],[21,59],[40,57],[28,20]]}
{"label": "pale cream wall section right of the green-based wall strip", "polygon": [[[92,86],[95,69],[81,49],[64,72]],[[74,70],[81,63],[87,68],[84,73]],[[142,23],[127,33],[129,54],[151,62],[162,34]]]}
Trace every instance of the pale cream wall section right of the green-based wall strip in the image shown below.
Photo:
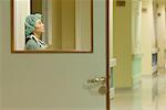
{"label": "pale cream wall section right of the green-based wall strip", "polygon": [[154,16],[153,16],[153,0],[143,0],[143,9],[146,11],[142,13],[142,74],[152,75],[152,50],[153,37],[155,37],[154,31]]}

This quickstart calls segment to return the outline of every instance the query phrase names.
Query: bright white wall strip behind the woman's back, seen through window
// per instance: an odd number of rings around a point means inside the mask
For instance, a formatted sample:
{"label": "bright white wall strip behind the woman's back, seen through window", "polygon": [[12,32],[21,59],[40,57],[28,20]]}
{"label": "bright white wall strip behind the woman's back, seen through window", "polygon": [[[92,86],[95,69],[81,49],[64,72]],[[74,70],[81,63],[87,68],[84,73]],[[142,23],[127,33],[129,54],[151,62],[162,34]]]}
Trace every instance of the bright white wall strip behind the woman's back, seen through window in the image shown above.
{"label": "bright white wall strip behind the woman's back, seen through window", "polygon": [[14,46],[17,51],[24,50],[24,20],[30,14],[30,0],[14,0]]}

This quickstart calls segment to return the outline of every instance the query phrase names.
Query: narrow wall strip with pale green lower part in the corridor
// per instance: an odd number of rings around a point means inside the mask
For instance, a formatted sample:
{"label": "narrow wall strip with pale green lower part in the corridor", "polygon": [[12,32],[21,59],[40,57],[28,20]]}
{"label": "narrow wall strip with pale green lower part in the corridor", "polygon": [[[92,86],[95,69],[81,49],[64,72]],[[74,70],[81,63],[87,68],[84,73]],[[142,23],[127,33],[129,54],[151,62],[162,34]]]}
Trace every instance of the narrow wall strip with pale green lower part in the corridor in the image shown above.
{"label": "narrow wall strip with pale green lower part in the corridor", "polygon": [[142,1],[132,1],[132,76],[133,86],[137,87],[141,81],[142,73],[142,43],[141,25],[142,24]]}

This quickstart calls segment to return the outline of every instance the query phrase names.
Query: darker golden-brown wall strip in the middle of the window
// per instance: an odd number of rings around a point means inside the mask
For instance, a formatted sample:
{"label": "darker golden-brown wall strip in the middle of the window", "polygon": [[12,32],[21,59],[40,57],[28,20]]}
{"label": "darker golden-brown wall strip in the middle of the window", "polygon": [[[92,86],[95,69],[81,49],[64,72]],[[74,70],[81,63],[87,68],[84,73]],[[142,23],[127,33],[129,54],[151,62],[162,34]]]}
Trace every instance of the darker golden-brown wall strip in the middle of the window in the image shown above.
{"label": "darker golden-brown wall strip in the middle of the window", "polygon": [[75,50],[75,2],[62,1],[62,50]]}

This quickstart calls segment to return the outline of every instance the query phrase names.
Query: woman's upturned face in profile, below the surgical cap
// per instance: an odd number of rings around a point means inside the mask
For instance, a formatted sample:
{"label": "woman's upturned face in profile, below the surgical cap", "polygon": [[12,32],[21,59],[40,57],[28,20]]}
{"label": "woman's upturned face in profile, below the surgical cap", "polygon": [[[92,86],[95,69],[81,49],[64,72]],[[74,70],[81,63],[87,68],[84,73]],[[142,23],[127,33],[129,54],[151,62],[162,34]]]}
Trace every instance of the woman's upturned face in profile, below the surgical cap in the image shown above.
{"label": "woman's upturned face in profile, below the surgical cap", "polygon": [[38,20],[38,21],[35,22],[35,28],[34,28],[34,31],[33,31],[33,32],[39,33],[39,34],[44,33],[44,24],[42,23],[41,20]]}

